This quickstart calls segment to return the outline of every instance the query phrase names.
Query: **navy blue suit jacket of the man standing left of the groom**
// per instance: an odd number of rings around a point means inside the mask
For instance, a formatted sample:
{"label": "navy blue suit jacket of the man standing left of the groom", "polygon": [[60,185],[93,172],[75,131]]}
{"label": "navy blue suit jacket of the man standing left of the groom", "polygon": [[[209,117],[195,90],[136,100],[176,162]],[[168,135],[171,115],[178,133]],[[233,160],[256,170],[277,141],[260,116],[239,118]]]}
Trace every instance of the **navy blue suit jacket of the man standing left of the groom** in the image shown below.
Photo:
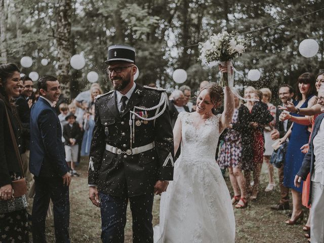
{"label": "navy blue suit jacket of the man standing left of the groom", "polygon": [[68,172],[60,120],[41,97],[30,112],[29,170],[42,177],[61,177]]}

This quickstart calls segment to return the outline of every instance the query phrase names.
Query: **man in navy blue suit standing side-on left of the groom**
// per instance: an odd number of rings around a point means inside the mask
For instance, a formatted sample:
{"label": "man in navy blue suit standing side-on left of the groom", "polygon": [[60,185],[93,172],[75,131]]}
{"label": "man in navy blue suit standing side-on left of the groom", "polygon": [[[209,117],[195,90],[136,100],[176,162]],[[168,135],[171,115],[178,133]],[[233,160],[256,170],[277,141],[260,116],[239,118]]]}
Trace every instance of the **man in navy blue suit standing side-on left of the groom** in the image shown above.
{"label": "man in navy blue suit standing side-on left of the groom", "polygon": [[41,96],[30,112],[29,170],[35,179],[32,207],[33,242],[46,242],[45,219],[50,199],[53,202],[56,242],[69,240],[69,184],[71,175],[64,156],[60,120],[53,108],[61,94],[56,77],[38,80]]}

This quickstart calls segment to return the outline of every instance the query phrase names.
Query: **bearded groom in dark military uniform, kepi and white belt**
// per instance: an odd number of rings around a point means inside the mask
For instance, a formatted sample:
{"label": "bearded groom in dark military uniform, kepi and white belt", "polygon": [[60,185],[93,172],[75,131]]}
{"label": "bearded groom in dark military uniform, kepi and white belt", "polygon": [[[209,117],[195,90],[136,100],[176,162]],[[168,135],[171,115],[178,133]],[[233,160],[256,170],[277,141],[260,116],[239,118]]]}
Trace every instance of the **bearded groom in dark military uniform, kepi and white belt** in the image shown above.
{"label": "bearded groom in dark military uniform, kepi and white belt", "polygon": [[103,242],[124,242],[128,201],[133,242],[153,242],[153,197],[173,180],[168,96],[134,83],[134,48],[109,47],[105,63],[114,90],[95,102],[89,198],[101,210]]}

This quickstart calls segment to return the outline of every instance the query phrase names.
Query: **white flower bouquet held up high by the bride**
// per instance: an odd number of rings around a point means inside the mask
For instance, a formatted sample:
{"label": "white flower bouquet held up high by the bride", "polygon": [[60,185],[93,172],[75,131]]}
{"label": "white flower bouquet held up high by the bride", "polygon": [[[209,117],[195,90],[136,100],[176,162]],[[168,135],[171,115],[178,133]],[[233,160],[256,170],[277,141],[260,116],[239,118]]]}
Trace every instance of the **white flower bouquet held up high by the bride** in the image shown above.
{"label": "white flower bouquet held up high by the bride", "polygon": [[[228,72],[222,73],[220,85],[222,87],[228,86],[228,80],[234,79],[231,74],[230,68],[232,67],[231,60],[235,57],[239,57],[246,50],[247,40],[238,36],[237,34],[226,31],[210,36],[208,41],[200,43],[200,56],[199,59],[204,63],[209,64],[211,62],[218,61],[221,65],[225,65],[227,62]],[[230,76],[230,78],[228,78]],[[231,84],[233,86],[233,84]]]}

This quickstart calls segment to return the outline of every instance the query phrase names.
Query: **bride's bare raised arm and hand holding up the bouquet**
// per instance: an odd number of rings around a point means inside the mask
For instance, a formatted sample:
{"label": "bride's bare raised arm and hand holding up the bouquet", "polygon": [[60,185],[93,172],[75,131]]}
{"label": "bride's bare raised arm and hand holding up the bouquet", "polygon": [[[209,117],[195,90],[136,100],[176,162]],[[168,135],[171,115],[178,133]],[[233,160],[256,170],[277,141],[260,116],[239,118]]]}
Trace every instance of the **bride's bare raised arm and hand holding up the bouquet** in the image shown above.
{"label": "bride's bare raised arm and hand holding up the bouquet", "polygon": [[[227,72],[227,66],[219,66],[221,72]],[[229,127],[232,122],[232,116],[234,112],[234,95],[228,86],[224,88],[224,111],[219,123],[219,132],[222,132],[225,128]]]}

